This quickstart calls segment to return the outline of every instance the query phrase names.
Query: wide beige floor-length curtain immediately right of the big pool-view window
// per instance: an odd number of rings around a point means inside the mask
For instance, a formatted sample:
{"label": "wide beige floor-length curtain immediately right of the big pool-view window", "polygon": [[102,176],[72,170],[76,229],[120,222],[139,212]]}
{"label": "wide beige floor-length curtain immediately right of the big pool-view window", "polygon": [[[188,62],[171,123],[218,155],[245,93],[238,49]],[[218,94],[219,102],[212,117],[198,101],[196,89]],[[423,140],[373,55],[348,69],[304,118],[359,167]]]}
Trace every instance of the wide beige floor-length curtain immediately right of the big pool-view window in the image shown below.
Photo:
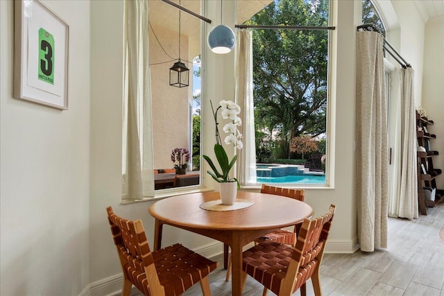
{"label": "wide beige floor-length curtain immediately right of the big pool-view window", "polygon": [[382,35],[357,32],[357,214],[361,250],[387,247],[388,153]]}

